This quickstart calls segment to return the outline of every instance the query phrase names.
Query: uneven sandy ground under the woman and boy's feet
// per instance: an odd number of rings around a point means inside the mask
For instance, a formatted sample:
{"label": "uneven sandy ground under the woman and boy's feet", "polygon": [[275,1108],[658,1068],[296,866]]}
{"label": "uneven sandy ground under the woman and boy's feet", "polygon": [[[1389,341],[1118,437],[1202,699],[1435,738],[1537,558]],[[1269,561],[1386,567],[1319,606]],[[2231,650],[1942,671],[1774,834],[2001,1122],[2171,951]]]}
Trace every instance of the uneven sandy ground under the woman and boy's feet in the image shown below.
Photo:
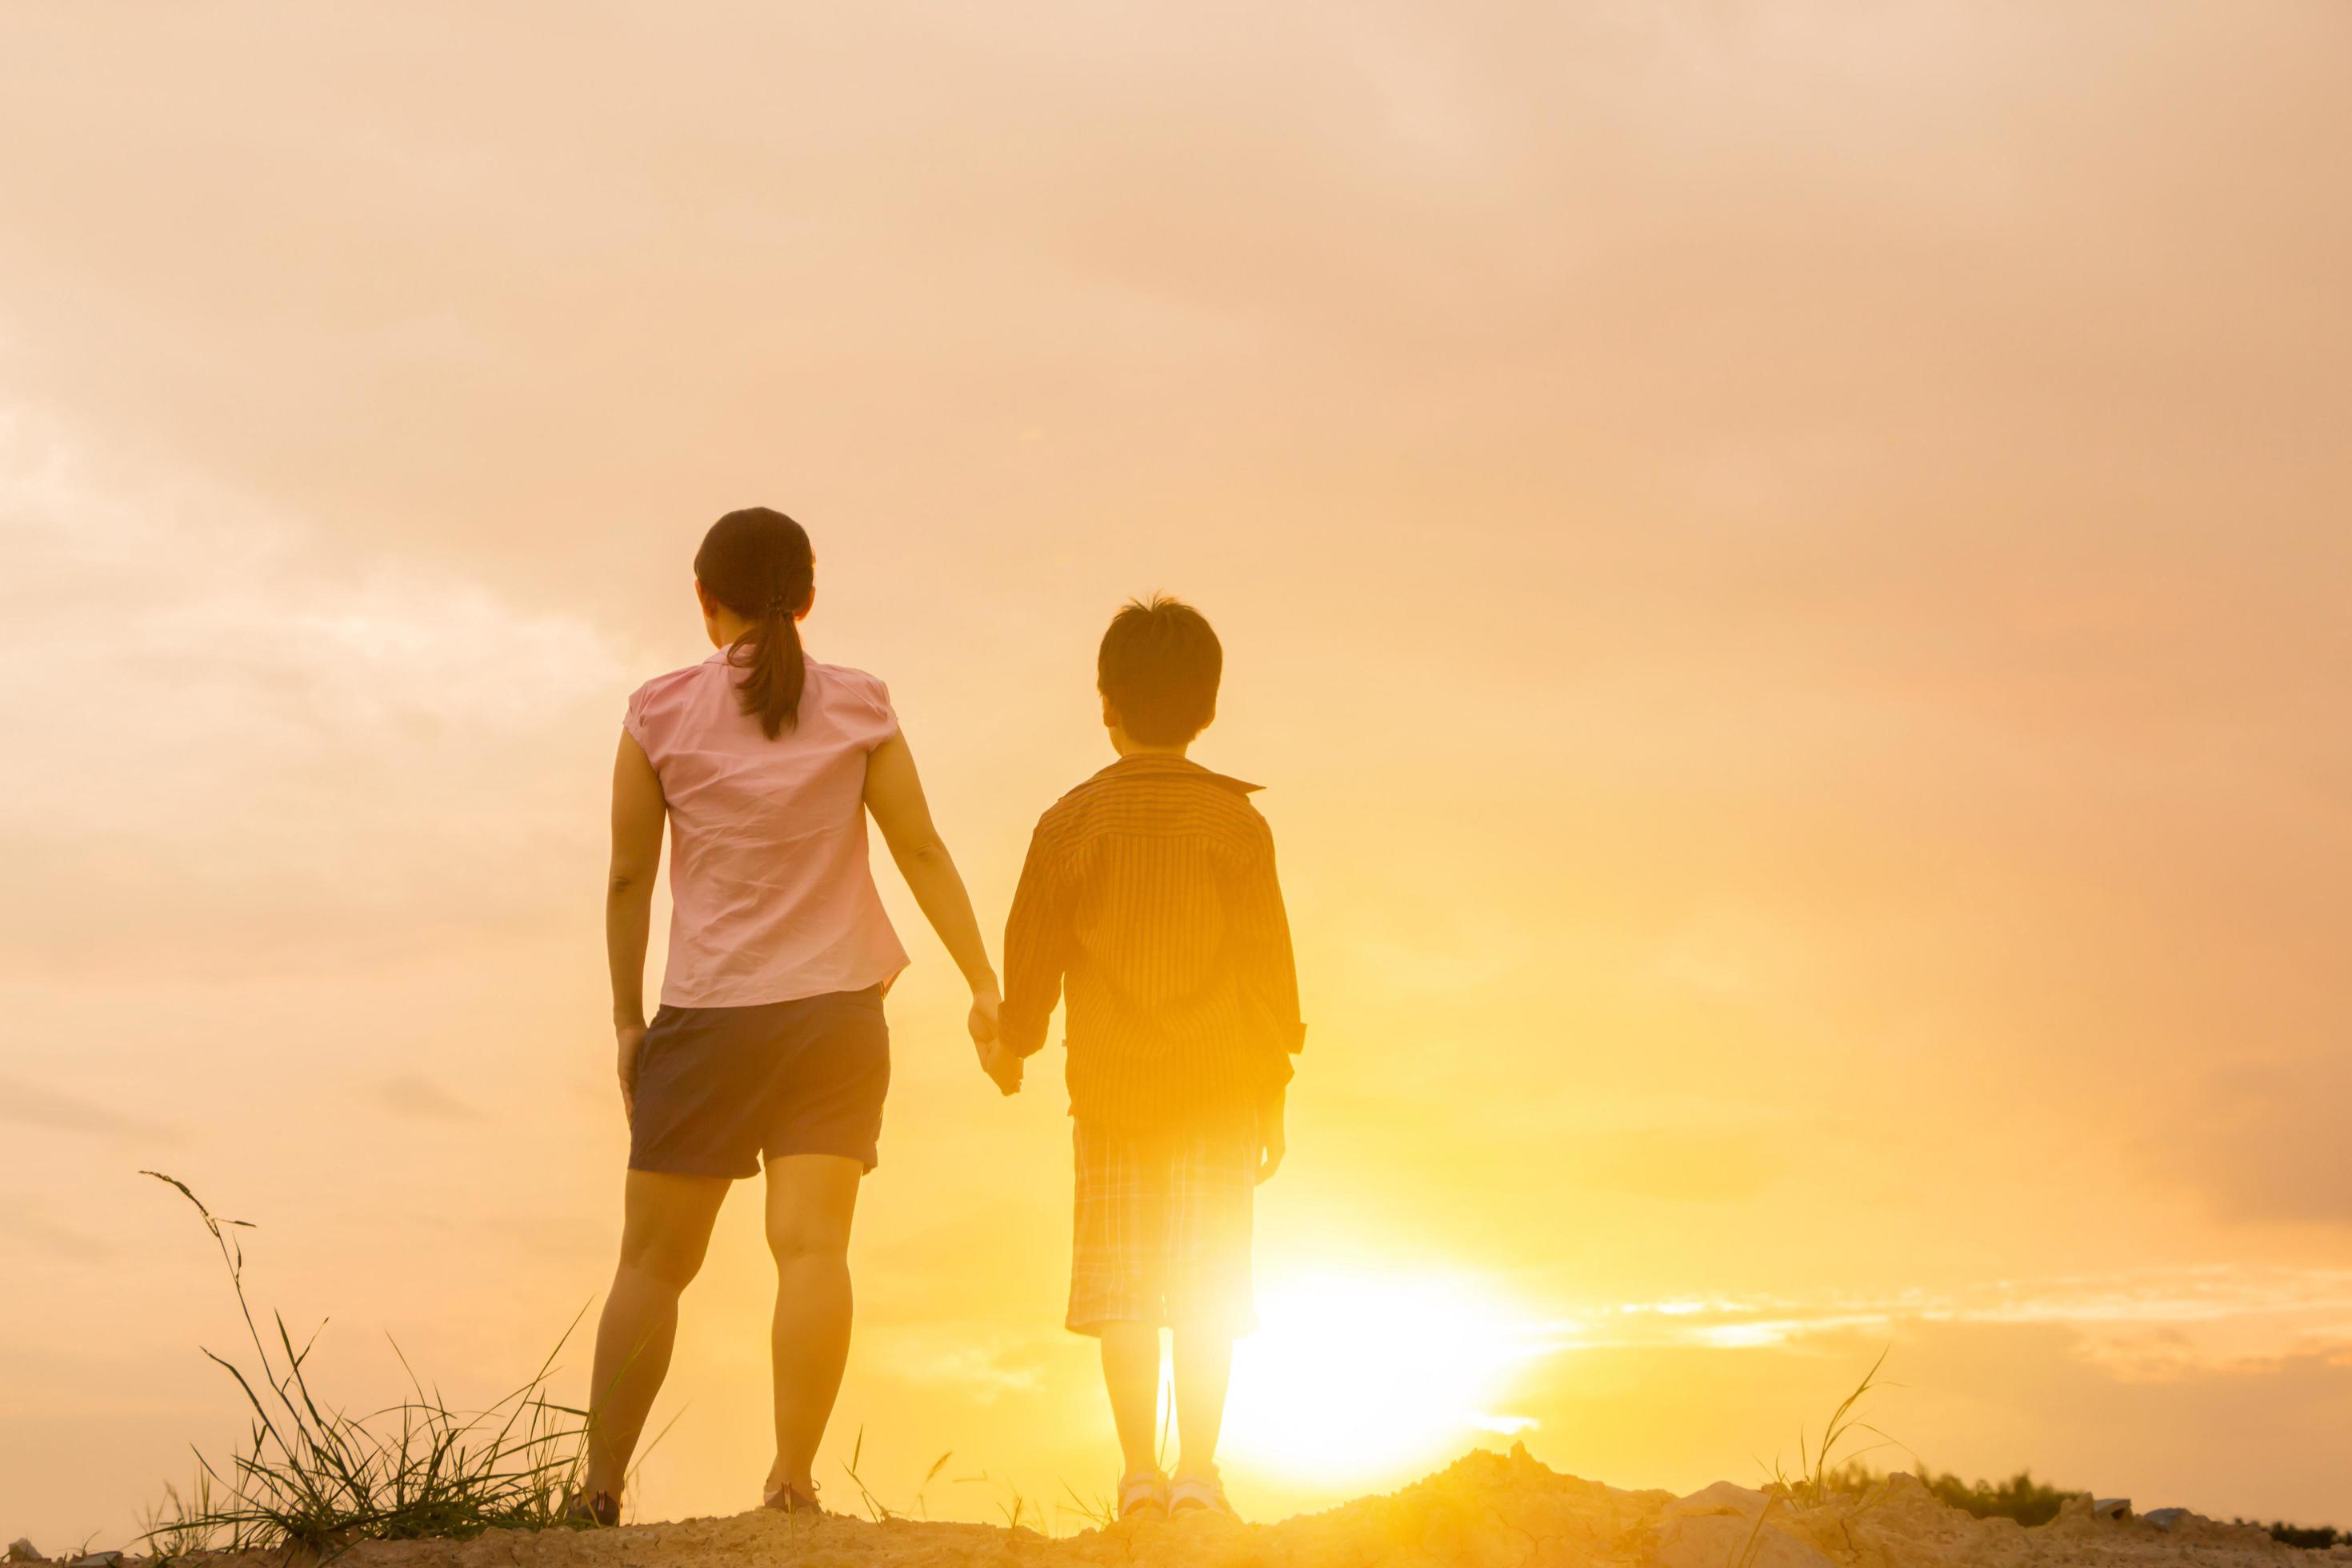
{"label": "uneven sandy ground under the woman and boy's feet", "polygon": [[[1244,1526],[1221,1519],[1127,1523],[1047,1540],[978,1523],[861,1519],[790,1521],[781,1514],[687,1519],[621,1530],[524,1535],[492,1530],[468,1542],[367,1542],[348,1568],[699,1568],[795,1563],[802,1568],[2006,1568],[2009,1563],[2197,1563],[2199,1568],[2321,1568],[2352,1547],[2296,1552],[2263,1530],[2194,1514],[2164,1521],[2096,1519],[2074,1502],[2053,1523],[2023,1530],[1971,1519],[1912,1476],[1867,1497],[1790,1509],[1729,1481],[1675,1497],[1623,1493],[1552,1474],[1515,1448],[1472,1453],[1390,1497],[1327,1514]],[[198,1556],[191,1568],[285,1568],[275,1556]]]}

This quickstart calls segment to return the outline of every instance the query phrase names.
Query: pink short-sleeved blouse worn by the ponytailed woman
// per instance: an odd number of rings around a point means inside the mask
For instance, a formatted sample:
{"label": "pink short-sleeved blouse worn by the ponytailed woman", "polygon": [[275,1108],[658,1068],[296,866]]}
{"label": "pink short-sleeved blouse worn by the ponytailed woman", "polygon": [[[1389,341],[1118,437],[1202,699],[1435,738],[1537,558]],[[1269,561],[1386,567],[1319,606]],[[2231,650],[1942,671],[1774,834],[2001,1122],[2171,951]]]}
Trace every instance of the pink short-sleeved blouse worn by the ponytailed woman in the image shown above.
{"label": "pink short-sleeved blouse worn by the ponytailed woman", "polygon": [[898,733],[889,689],[809,661],[800,724],[743,712],[720,649],[656,675],[623,729],[670,809],[668,1006],[755,1006],[880,985],[906,969],[866,863],[866,757]]}

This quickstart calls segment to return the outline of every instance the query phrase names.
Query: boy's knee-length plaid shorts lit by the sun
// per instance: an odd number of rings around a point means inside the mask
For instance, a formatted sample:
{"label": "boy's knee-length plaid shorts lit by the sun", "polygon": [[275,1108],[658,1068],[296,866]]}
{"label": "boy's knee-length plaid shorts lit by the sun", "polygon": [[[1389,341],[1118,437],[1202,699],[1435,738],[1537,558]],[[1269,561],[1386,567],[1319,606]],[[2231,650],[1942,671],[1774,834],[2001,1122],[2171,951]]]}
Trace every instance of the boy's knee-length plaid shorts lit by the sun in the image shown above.
{"label": "boy's knee-length plaid shorts lit by the sun", "polygon": [[1075,1333],[1103,1324],[1258,1326],[1249,1288],[1251,1128],[1129,1133],[1075,1124]]}

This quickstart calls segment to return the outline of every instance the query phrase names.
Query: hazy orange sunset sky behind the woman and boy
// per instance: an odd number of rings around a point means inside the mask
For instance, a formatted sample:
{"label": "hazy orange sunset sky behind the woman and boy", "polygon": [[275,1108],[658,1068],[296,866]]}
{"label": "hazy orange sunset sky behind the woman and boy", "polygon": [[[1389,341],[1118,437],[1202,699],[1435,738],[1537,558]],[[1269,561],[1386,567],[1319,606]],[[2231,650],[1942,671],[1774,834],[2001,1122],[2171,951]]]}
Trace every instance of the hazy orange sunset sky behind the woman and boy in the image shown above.
{"label": "hazy orange sunset sky behind the woman and boy", "polygon": [[[2328,0],[9,9],[0,1526],[238,1432],[139,1166],[362,1403],[600,1291],[612,736],[743,503],[993,929],[1108,611],[1225,637],[1312,1020],[1268,1354],[1435,1293],[1494,1396],[1261,1413],[1244,1507],[1505,1429],[1752,1481],[1891,1342],[1940,1467],[2352,1523],[2347,59]],[[997,1103],[884,891],[835,1434],[1089,1490],[1058,1058]],[[724,1225],[661,1514],[767,1462]]]}

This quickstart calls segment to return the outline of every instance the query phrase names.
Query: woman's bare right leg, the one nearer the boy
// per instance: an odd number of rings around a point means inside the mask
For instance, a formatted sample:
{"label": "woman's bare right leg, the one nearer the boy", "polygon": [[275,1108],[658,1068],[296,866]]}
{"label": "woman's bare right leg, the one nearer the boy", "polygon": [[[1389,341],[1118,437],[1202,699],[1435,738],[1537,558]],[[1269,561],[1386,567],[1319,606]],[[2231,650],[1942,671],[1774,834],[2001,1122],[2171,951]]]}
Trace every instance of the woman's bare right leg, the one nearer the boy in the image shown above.
{"label": "woman's bare right leg, the one nearer the boy", "polygon": [[866,1166],[842,1154],[767,1161],[767,1246],[776,1255],[776,1465],[767,1495],[816,1495],[816,1443],[849,1361],[849,1220]]}

